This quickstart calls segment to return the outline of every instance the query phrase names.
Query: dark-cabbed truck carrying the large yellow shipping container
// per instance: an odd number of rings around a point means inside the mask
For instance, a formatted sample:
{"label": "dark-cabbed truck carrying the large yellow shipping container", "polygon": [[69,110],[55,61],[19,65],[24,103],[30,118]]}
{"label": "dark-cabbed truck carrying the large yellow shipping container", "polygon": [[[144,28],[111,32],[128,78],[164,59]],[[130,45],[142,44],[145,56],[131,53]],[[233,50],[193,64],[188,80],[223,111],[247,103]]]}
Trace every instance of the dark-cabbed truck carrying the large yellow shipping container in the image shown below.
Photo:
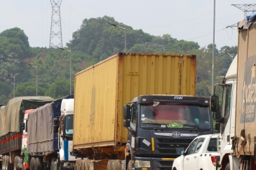
{"label": "dark-cabbed truck carrying the large yellow shipping container", "polygon": [[195,77],[196,55],[123,52],[76,73],[73,153],[88,159],[75,169],[170,169],[178,147],[213,134]]}

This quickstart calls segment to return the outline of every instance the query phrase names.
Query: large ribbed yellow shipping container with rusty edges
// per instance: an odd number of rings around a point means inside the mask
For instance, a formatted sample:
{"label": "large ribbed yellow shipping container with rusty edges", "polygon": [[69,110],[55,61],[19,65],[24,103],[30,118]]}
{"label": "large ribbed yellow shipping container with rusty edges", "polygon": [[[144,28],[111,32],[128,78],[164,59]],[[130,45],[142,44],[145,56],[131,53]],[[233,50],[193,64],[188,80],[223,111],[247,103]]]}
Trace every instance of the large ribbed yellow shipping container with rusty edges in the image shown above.
{"label": "large ribbed yellow shipping container with rusty edges", "polygon": [[195,94],[196,55],[123,53],[75,75],[74,149],[126,143],[123,105],[142,94]]}

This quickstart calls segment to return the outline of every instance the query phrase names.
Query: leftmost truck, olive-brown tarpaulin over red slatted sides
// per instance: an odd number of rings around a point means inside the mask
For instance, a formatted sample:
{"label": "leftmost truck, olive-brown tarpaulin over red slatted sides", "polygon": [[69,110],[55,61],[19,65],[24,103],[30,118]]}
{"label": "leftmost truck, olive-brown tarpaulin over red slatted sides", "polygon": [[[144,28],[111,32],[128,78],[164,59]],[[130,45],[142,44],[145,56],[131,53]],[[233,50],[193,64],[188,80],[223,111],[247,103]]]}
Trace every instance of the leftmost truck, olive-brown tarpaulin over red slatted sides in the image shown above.
{"label": "leftmost truck, olive-brown tarpaulin over red slatted sides", "polygon": [[25,111],[38,108],[53,101],[50,97],[15,97],[6,106],[0,107],[0,155],[2,169],[16,169],[17,157],[24,157],[22,139],[27,136],[22,131]]}

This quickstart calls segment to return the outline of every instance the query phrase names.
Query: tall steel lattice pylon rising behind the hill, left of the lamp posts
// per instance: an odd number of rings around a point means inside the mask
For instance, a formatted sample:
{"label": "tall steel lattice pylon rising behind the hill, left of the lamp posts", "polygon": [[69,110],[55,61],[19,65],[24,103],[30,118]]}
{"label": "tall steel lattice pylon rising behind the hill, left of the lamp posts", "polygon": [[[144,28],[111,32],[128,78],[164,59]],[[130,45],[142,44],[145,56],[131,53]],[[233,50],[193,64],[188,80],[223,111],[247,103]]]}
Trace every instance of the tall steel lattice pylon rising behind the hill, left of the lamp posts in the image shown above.
{"label": "tall steel lattice pylon rising behind the hill, left of the lamp posts", "polygon": [[50,3],[53,9],[52,9],[52,20],[50,24],[49,48],[63,47],[61,20],[60,20],[60,5],[62,3],[62,0],[50,0]]}

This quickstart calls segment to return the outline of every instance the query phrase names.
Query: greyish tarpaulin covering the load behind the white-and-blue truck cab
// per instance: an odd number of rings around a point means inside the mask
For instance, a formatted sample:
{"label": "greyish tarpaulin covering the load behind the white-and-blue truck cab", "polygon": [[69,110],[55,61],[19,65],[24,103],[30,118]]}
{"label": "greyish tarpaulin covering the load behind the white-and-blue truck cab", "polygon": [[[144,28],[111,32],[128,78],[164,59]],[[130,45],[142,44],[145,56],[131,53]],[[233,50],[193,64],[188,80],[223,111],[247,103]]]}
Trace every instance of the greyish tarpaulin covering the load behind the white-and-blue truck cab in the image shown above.
{"label": "greyish tarpaulin covering the load behind the white-and-blue truck cab", "polygon": [[27,153],[48,155],[58,150],[58,134],[53,133],[53,120],[61,115],[62,99],[74,99],[74,95],[52,101],[29,113]]}

